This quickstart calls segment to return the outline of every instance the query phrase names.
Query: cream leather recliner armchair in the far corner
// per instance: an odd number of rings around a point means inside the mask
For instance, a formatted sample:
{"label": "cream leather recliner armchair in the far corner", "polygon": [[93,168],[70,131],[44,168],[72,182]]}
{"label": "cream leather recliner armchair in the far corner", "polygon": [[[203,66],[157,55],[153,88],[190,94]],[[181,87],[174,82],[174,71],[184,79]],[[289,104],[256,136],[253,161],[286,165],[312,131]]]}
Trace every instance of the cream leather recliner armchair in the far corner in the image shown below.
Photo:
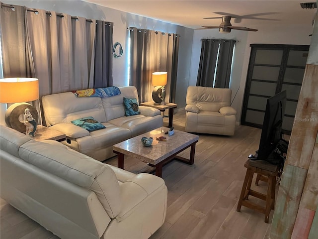
{"label": "cream leather recliner armchair in the far corner", "polygon": [[231,107],[231,89],[189,86],[185,131],[234,135],[237,111]]}

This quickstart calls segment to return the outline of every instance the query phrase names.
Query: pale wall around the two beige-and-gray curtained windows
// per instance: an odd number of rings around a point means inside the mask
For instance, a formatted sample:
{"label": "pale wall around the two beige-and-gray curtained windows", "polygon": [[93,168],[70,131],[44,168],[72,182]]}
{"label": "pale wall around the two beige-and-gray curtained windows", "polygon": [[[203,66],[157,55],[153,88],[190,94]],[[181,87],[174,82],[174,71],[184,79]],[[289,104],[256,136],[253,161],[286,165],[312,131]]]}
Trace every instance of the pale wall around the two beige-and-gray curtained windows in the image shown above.
{"label": "pale wall around the two beige-and-gray curtained windows", "polygon": [[128,85],[128,30],[127,27],[158,30],[180,35],[176,103],[185,102],[186,88],[189,81],[189,69],[193,29],[162,22],[159,20],[130,14],[127,12],[99,6],[80,0],[2,0],[3,3],[25,5],[30,8],[52,10],[68,13],[72,16],[82,16],[89,19],[99,19],[114,22],[113,42],[120,42],[124,53],[120,58],[113,58],[114,86]]}

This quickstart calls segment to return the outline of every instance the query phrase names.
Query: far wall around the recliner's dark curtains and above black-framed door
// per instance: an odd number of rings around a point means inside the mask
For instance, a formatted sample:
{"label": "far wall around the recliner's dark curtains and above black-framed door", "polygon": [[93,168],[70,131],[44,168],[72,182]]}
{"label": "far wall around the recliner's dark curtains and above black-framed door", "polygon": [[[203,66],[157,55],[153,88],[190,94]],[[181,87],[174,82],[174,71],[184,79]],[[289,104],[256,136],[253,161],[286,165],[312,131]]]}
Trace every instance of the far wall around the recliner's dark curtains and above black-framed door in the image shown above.
{"label": "far wall around the recliner's dark curtains and above black-framed door", "polygon": [[[237,112],[237,122],[240,122],[242,102],[244,97],[247,69],[250,55],[250,44],[293,44],[310,45],[313,26],[292,25],[281,26],[274,24],[271,27],[261,26],[258,31],[238,31],[232,30],[231,33],[219,33],[218,29],[195,30],[193,36],[192,59],[190,69],[189,85],[195,86],[200,61],[201,39],[235,39],[235,55],[233,59],[233,69],[230,81],[232,89],[232,107]],[[235,96],[236,95],[236,96]]]}

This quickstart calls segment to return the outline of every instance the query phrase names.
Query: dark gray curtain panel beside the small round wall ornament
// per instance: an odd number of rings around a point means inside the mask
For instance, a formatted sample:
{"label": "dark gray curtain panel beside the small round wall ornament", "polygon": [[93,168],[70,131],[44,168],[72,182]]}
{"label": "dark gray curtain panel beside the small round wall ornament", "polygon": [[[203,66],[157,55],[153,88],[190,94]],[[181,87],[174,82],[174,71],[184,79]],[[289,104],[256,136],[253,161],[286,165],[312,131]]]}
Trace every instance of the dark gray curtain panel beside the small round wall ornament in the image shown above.
{"label": "dark gray curtain panel beside the small round wall ornament", "polygon": [[113,25],[96,20],[94,88],[113,85]]}

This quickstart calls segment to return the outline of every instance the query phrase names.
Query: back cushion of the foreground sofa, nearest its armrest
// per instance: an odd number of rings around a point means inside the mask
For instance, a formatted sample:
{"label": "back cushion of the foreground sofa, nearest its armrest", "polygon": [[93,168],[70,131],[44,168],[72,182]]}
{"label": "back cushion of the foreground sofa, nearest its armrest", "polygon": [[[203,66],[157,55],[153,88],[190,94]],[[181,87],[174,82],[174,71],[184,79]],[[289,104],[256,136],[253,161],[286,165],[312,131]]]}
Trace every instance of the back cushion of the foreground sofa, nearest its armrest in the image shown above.
{"label": "back cushion of the foreground sofa, nearest its armrest", "polygon": [[21,145],[24,161],[95,192],[110,218],[121,210],[120,187],[114,171],[97,160],[66,147],[30,140]]}

